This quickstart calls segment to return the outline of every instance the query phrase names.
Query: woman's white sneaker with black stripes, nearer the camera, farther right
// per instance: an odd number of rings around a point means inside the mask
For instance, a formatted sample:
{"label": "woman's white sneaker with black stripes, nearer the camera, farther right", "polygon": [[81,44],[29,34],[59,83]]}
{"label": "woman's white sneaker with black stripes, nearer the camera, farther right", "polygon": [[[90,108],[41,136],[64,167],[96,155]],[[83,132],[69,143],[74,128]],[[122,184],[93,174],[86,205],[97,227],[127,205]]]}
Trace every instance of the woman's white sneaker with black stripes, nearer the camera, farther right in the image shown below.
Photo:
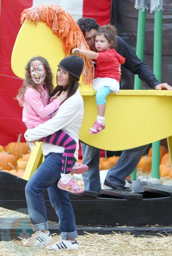
{"label": "woman's white sneaker with black stripes, nearer the camera, farther right", "polygon": [[61,249],[78,250],[79,245],[76,240],[74,242],[71,242],[65,239],[61,239],[59,243],[49,245],[45,249],[46,250],[61,250]]}

